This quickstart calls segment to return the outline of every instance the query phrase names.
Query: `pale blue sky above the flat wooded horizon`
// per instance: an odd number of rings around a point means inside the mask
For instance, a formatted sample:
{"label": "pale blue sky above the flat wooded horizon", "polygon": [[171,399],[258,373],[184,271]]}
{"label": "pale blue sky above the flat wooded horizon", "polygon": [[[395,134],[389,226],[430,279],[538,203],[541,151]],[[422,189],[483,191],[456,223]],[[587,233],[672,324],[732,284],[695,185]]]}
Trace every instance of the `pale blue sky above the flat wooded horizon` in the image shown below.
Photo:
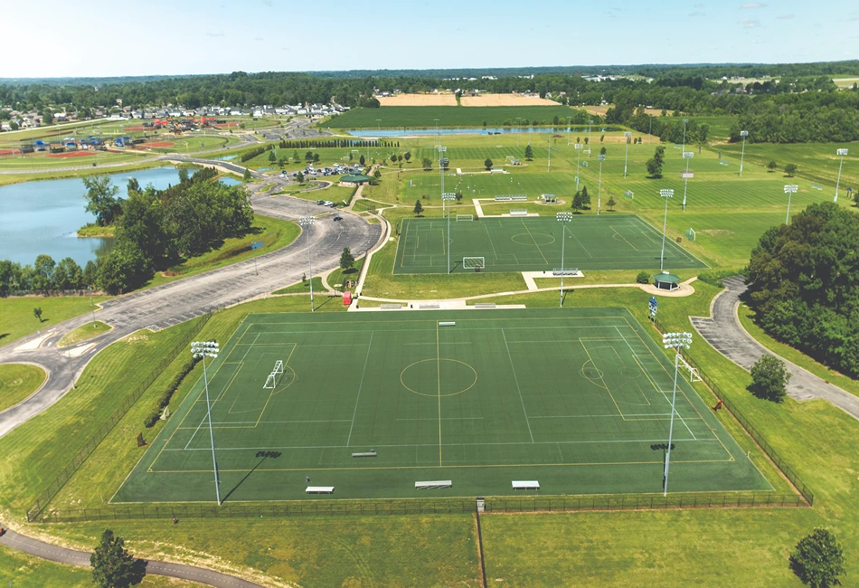
{"label": "pale blue sky above the flat wooded horizon", "polygon": [[845,0],[42,0],[0,23],[0,77],[859,57]]}

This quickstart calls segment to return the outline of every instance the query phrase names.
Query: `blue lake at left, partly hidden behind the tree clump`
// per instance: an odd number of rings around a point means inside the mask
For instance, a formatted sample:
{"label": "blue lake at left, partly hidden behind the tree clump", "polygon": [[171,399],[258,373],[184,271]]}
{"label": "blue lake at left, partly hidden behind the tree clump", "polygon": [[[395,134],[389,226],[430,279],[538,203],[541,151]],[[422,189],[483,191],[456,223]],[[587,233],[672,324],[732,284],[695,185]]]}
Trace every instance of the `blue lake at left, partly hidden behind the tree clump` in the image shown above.
{"label": "blue lake at left, partly hidden behind the tree clump", "polygon": [[[157,167],[136,172],[112,174],[125,197],[131,177],[141,186],[151,184],[158,190],[179,183],[174,167]],[[113,239],[79,239],[75,232],[95,217],[86,211],[86,189],[80,178],[44,180],[0,187],[0,260],[33,264],[36,256],[47,253],[53,261],[71,257],[80,264],[113,246]]]}

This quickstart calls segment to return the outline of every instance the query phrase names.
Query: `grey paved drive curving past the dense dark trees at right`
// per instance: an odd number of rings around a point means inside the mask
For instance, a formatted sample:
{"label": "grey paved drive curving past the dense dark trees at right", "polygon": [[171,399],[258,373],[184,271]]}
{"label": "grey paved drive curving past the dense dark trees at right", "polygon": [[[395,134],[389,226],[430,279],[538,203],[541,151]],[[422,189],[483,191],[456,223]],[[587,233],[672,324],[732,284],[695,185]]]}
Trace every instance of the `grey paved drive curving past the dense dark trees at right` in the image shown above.
{"label": "grey paved drive curving past the dense dark trees at right", "polygon": [[[776,355],[755,341],[740,324],[737,309],[740,307],[740,298],[748,286],[739,276],[722,281],[726,289],[713,299],[713,317],[693,317],[692,323],[701,337],[723,356],[743,369],[750,370],[760,356]],[[790,373],[788,395],[791,398],[800,402],[822,398],[835,404],[854,419],[859,419],[859,398],[824,382],[817,375],[791,364],[782,357],[779,359],[785,362]]]}

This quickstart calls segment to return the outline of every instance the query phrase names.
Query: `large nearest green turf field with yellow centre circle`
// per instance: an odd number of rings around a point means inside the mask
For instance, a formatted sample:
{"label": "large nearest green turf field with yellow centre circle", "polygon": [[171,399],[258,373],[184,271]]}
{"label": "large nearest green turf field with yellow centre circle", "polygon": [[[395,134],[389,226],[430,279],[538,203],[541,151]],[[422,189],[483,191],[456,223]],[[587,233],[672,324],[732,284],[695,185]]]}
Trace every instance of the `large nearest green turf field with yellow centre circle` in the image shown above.
{"label": "large nearest green turf field with yellow centre circle", "polygon": [[[673,365],[623,308],[251,314],[208,373],[228,501],[661,492]],[[683,378],[676,407],[671,490],[772,488]],[[213,499],[202,381],[151,441],[112,502]]]}

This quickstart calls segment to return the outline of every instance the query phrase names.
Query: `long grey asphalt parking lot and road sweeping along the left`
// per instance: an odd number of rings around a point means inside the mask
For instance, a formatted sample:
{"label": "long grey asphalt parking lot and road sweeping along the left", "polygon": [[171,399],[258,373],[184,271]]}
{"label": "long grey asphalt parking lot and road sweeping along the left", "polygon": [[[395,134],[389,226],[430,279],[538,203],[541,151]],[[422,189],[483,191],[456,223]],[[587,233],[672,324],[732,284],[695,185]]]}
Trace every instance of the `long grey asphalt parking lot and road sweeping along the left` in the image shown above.
{"label": "long grey asphalt parking lot and road sweeping along the left", "polygon": [[[330,208],[286,196],[258,194],[251,196],[251,203],[258,213],[288,220],[308,213],[331,212]],[[337,223],[333,220],[334,215],[317,218],[310,230],[314,273],[337,267],[344,247],[349,247],[358,257],[372,248],[382,236],[381,224],[366,223],[350,213],[339,215],[343,221]],[[57,343],[63,334],[89,322],[90,314],[71,318],[53,327],[50,335],[38,346],[33,342],[44,337],[44,333],[0,346],[0,364],[40,365],[48,374],[36,394],[0,413],[0,437],[60,400],[71,389],[72,373],[75,379],[80,377],[92,357],[119,338],[141,328],[173,327],[217,308],[231,306],[295,283],[305,273],[307,233],[302,232],[296,242],[278,251],[108,300],[96,314],[101,322],[113,329],[80,346],[71,347],[71,354],[67,348],[59,350]],[[28,343],[34,348],[20,349]]]}

